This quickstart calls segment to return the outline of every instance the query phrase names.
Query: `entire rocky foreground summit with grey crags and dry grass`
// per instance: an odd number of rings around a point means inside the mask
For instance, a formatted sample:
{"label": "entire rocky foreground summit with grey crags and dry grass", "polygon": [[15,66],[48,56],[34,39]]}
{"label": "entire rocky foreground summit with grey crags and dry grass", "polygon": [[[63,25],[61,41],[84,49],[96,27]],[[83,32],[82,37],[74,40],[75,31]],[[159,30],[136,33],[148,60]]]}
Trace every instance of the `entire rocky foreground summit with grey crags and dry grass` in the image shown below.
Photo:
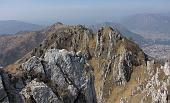
{"label": "entire rocky foreground summit with grey crags and dry grass", "polygon": [[116,28],[53,26],[38,47],[1,69],[0,102],[168,103],[170,63],[150,58]]}

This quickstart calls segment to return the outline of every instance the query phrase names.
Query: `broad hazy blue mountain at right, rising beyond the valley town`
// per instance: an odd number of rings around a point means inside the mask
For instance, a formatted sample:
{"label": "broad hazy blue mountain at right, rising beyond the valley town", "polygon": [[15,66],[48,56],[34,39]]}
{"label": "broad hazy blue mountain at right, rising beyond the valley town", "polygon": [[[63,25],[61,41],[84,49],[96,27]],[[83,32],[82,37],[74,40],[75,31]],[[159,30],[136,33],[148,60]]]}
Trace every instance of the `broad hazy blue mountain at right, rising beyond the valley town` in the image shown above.
{"label": "broad hazy blue mountain at right, rising beyond the valley town", "polygon": [[170,40],[170,16],[166,14],[136,14],[125,18],[121,24],[147,39]]}

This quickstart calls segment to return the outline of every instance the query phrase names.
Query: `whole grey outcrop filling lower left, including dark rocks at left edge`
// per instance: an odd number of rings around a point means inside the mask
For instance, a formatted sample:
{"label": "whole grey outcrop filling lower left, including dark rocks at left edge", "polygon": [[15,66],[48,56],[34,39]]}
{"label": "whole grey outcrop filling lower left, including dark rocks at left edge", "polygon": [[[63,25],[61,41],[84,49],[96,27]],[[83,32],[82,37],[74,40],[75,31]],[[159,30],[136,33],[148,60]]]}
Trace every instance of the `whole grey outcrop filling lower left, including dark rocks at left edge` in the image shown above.
{"label": "whole grey outcrop filling lower left, including dark rocks at left edge", "polygon": [[49,49],[43,58],[33,56],[23,63],[18,75],[2,75],[3,102],[5,98],[10,103],[97,102],[93,71],[81,51]]}

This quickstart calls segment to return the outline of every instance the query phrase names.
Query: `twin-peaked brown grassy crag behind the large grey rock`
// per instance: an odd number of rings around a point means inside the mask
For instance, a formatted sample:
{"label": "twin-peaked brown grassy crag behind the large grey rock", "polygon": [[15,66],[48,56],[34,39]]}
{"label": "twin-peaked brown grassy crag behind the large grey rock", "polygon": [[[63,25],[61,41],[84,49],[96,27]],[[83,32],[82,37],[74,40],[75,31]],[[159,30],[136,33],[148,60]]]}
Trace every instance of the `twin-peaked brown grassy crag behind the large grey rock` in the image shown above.
{"label": "twin-peaked brown grassy crag behind the large grey rock", "polygon": [[[44,53],[50,48],[77,51],[77,54],[82,54],[87,59],[86,62],[94,69],[95,76],[98,75],[95,88],[98,101],[101,102],[111,95],[114,85],[125,85],[130,80],[133,66],[145,64],[142,50],[110,27],[101,28],[97,34],[81,25],[60,29],[48,37],[32,55],[44,57],[48,61],[48,57],[55,55],[48,53],[47,56]],[[71,55],[73,54],[74,52]],[[49,61],[54,62],[54,59],[50,58]],[[83,59],[81,61],[84,62]],[[99,65],[94,65],[96,63]]]}

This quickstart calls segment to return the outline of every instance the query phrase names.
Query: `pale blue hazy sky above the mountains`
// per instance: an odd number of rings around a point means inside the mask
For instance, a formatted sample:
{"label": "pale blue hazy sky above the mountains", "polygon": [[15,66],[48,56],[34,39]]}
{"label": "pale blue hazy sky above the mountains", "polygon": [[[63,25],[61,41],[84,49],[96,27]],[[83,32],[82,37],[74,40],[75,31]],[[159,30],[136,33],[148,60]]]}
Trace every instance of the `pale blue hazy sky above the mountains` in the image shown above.
{"label": "pale blue hazy sky above the mountains", "polygon": [[0,20],[95,23],[135,13],[170,12],[170,0],[0,0]]}

